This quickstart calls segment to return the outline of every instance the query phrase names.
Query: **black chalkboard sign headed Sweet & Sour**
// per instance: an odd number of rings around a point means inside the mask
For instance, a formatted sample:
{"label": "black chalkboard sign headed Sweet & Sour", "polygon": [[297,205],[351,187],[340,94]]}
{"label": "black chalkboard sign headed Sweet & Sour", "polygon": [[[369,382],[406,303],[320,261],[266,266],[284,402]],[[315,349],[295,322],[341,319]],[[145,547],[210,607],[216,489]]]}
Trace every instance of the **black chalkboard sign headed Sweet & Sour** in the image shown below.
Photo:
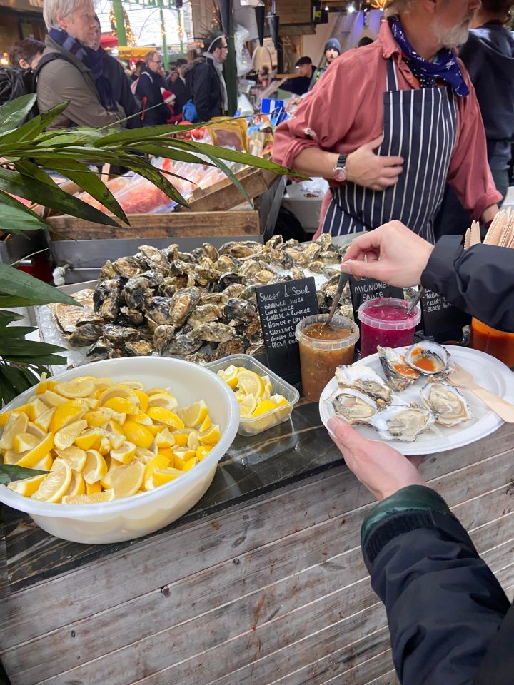
{"label": "black chalkboard sign headed Sweet & Sour", "polygon": [[290,383],[300,382],[300,355],[295,328],[298,321],[318,313],[313,278],[256,288],[268,366]]}

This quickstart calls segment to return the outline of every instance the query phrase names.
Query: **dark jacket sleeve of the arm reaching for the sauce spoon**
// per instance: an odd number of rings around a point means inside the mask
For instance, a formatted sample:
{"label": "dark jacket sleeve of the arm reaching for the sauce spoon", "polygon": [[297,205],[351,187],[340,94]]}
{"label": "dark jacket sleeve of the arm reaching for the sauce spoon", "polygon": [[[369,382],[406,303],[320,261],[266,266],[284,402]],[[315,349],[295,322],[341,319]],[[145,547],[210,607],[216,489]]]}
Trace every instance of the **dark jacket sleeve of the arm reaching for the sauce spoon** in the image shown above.
{"label": "dark jacket sleeve of the arm reaching for the sauce spoon", "polygon": [[514,332],[514,250],[496,245],[464,250],[461,240],[459,235],[438,240],[421,284],[483,323]]}

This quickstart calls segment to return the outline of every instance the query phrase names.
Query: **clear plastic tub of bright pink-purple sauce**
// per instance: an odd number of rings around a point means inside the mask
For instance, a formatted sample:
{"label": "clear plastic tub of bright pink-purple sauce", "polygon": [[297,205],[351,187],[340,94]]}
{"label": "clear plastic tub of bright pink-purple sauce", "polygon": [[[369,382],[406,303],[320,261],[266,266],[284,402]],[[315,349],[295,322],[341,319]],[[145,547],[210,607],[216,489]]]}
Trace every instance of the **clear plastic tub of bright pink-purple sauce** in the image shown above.
{"label": "clear plastic tub of bright pink-purple sauce", "polygon": [[361,354],[373,355],[377,345],[403,347],[412,345],[415,327],[420,323],[421,310],[416,307],[407,315],[408,303],[397,298],[366,300],[359,307],[361,322]]}

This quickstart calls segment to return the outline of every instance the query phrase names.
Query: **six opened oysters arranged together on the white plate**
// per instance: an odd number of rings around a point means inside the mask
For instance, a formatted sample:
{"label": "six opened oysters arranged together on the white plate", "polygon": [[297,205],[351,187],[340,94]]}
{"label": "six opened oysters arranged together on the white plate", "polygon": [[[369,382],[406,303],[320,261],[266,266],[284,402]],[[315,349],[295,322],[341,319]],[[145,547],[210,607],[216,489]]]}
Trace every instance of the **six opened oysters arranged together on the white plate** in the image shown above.
{"label": "six opened oysters arranged together on the white plate", "polygon": [[[463,395],[445,382],[451,370],[448,350],[436,342],[417,342],[401,354],[391,347],[378,347],[385,380],[371,367],[340,366],[338,389],[328,400],[333,412],[351,425],[373,426],[383,440],[414,442],[435,423],[447,427],[473,418]],[[426,384],[417,402],[405,404],[393,396],[420,377]]]}

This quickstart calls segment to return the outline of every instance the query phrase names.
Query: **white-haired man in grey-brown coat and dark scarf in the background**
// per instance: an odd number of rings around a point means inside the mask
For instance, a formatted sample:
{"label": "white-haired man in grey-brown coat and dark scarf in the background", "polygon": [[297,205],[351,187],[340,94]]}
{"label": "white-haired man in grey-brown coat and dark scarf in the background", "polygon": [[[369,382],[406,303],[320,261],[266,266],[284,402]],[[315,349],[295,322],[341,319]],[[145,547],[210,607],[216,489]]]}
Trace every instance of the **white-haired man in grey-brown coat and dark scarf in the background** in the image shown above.
{"label": "white-haired man in grey-brown coat and dark scarf in the background", "polygon": [[37,105],[43,113],[69,101],[50,128],[121,123],[125,112],[104,75],[101,55],[89,47],[98,31],[93,1],[44,0],[43,16],[49,33],[36,72]]}

